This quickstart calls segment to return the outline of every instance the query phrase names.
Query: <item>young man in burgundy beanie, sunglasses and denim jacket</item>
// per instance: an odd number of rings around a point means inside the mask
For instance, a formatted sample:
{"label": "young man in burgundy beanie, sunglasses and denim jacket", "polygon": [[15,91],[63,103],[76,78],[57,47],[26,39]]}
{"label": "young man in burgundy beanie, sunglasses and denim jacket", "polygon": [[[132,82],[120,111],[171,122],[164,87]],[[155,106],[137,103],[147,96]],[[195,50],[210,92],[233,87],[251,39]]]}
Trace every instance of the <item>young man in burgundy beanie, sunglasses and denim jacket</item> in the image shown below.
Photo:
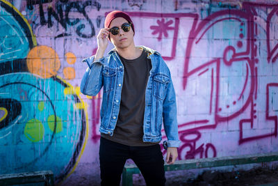
{"label": "young man in burgundy beanie, sunglasses and denim jacket", "polygon": [[[81,92],[97,95],[102,86],[99,162],[101,185],[120,185],[122,170],[131,158],[147,185],[165,185],[164,160],[158,143],[163,123],[167,164],[177,159],[177,105],[167,65],[161,55],[136,47],[129,15],[113,11],[97,35],[95,56],[84,59],[88,68]],[[115,46],[107,56],[109,40]]]}

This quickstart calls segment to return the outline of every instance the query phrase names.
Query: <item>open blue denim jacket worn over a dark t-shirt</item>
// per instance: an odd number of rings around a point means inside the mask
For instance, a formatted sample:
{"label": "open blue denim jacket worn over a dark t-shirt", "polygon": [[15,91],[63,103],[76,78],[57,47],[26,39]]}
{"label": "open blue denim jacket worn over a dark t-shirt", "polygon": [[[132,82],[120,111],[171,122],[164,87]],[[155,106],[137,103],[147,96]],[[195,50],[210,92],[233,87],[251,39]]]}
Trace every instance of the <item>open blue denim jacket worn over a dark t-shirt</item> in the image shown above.
{"label": "open blue denim jacket worn over a dark t-shirt", "polygon": [[[152,70],[149,72],[145,93],[143,141],[161,141],[163,123],[167,137],[166,146],[179,147],[177,103],[170,70],[158,52],[144,46],[140,48],[147,50],[147,57],[152,61]],[[108,56],[96,61],[94,57],[83,59],[83,62],[88,64],[88,68],[81,81],[81,93],[97,95],[104,86],[99,132],[112,136],[120,111],[124,65],[115,49],[111,50]]]}

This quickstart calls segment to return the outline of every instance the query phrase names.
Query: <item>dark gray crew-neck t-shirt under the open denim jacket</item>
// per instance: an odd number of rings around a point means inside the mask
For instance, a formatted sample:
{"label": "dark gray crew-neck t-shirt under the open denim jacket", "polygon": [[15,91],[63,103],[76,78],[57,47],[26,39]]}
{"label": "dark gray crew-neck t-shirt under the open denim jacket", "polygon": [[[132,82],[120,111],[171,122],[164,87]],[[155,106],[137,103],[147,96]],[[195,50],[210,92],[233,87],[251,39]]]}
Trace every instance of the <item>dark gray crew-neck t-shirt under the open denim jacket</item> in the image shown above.
{"label": "dark gray crew-neck t-shirt under the open denim jacket", "polygon": [[[119,55],[120,56],[120,55]],[[145,92],[149,79],[149,71],[152,69],[147,52],[133,60],[120,56],[124,65],[124,82],[120,102],[120,113],[113,136],[101,134],[101,137],[127,146],[150,146],[158,143],[146,143],[142,141],[143,121],[145,112]]]}

